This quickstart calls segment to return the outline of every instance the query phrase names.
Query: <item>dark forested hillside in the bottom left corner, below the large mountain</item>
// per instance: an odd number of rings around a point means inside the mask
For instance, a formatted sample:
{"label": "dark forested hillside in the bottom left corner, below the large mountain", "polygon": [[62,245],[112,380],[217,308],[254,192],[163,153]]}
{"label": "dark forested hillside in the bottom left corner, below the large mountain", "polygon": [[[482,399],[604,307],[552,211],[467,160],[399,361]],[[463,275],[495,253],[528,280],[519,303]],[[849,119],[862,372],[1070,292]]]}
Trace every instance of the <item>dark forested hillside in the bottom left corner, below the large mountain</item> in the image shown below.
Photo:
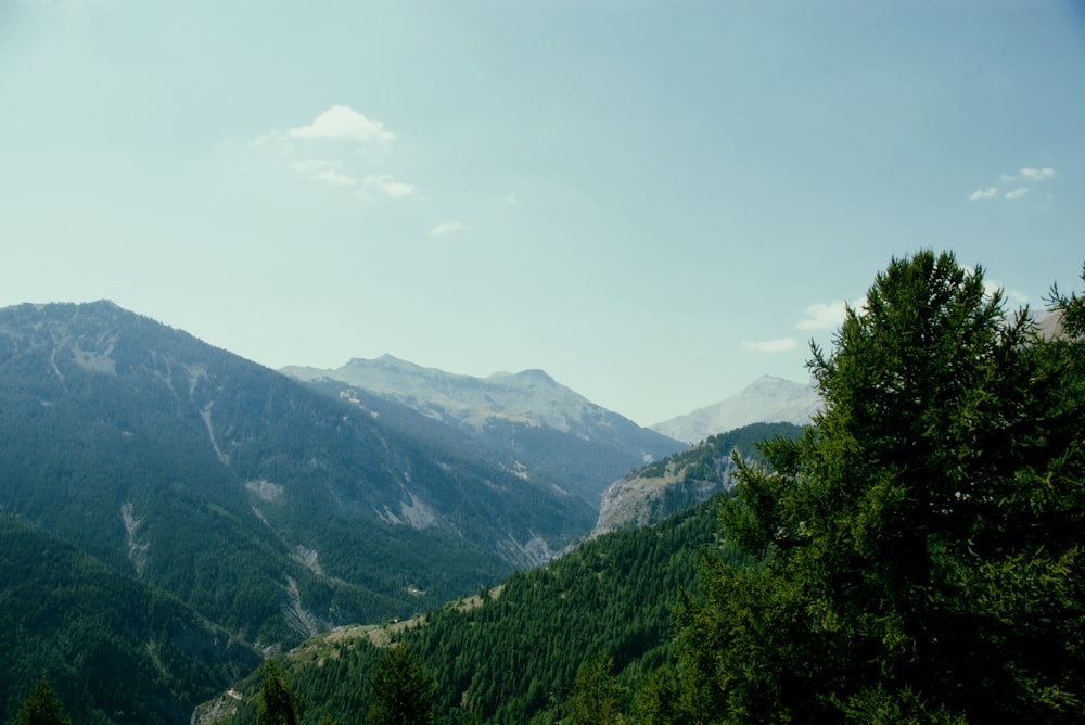
{"label": "dark forested hillside in the bottom left corner, below the large mountain", "polygon": [[77,723],[188,723],[253,649],[178,599],[0,513],[0,722],[48,677]]}

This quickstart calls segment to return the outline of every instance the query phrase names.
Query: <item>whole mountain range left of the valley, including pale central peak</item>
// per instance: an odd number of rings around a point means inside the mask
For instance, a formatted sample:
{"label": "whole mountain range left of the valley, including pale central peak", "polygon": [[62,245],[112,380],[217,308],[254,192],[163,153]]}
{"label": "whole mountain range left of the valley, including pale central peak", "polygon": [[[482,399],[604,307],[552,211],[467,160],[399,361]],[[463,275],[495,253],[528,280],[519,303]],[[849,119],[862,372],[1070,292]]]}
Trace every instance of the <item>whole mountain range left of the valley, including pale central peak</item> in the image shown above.
{"label": "whole mountain range left of the valley, including pale central peak", "polygon": [[0,715],[48,672],[80,722],[187,722],[259,657],[550,561],[684,447],[540,370],[278,372],[110,302],[0,309]]}

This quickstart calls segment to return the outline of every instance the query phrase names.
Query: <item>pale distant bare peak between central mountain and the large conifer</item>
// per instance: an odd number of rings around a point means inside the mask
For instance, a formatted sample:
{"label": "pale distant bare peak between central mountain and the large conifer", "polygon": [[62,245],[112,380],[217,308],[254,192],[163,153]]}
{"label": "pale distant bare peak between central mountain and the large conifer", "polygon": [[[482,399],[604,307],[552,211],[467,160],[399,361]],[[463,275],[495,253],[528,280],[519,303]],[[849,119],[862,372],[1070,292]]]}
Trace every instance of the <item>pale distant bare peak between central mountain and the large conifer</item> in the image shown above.
{"label": "pale distant bare peak between central mountain and the large conifer", "polygon": [[726,400],[650,428],[694,444],[750,423],[805,425],[820,407],[821,399],[812,385],[763,376]]}

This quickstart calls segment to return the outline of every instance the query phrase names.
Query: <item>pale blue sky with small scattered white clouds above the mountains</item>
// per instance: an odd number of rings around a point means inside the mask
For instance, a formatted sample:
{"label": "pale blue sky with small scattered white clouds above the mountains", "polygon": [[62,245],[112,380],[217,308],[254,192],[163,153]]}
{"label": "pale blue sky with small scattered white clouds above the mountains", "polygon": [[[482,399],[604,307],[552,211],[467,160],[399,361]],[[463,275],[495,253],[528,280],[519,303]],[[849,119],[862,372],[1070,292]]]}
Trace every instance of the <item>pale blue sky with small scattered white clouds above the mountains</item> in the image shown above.
{"label": "pale blue sky with small scattered white clouds above the mountains", "polygon": [[918,250],[1081,290],[1083,78],[1073,1],[0,0],[0,306],[649,425]]}

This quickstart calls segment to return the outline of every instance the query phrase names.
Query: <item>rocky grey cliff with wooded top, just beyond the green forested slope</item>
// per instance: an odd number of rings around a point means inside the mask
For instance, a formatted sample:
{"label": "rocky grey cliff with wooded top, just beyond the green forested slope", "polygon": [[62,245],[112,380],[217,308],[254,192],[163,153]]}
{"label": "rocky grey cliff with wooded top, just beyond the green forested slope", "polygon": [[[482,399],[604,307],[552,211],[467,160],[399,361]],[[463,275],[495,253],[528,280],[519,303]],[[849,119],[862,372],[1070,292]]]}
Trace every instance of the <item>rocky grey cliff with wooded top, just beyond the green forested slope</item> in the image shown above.
{"label": "rocky grey cliff with wooded top, just beyond the green forested slope", "polygon": [[757,444],[777,436],[794,438],[801,431],[792,423],[753,423],[710,435],[688,450],[630,471],[607,488],[591,535],[653,524],[727,491],[735,470],[731,451],[758,460]]}

